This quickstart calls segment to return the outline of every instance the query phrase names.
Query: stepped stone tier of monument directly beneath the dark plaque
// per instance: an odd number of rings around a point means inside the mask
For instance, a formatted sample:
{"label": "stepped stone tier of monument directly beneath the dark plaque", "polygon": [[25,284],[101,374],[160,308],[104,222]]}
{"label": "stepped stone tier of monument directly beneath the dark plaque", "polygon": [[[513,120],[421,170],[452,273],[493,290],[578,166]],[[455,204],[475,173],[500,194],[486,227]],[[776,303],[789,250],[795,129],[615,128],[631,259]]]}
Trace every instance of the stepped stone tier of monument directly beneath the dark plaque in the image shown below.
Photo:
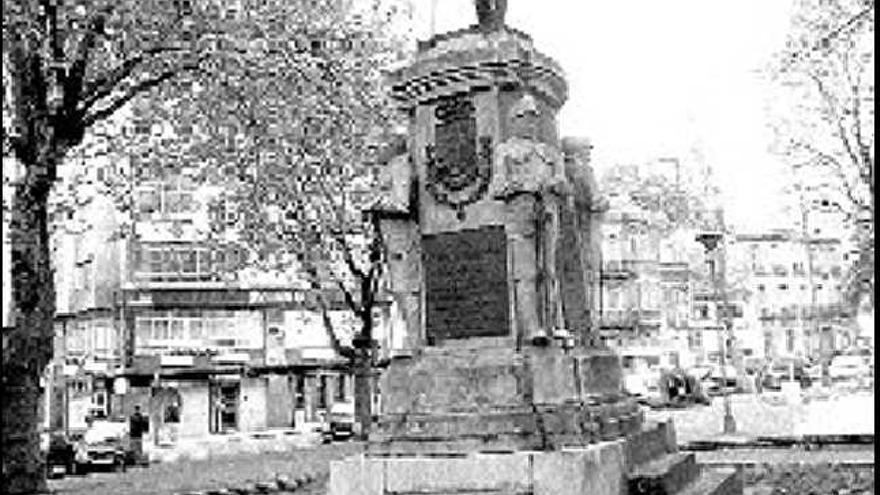
{"label": "stepped stone tier of monument directly beneath the dark plaque", "polygon": [[[473,342],[471,342],[473,344]],[[395,360],[368,451],[557,450],[638,431],[609,351],[559,347],[428,348]]]}

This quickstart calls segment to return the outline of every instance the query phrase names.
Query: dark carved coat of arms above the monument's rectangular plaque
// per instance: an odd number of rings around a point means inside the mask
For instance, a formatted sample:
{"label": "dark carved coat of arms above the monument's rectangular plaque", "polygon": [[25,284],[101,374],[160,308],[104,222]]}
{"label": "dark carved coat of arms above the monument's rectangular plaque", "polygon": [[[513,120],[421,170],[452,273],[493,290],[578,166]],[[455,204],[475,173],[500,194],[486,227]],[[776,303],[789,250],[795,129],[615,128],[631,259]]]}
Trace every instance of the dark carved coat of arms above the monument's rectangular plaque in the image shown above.
{"label": "dark carved coat of arms above the monument's rectangular plaque", "polygon": [[459,216],[483,197],[492,179],[492,138],[477,137],[475,112],[466,96],[441,100],[434,111],[434,144],[425,150],[428,191]]}

